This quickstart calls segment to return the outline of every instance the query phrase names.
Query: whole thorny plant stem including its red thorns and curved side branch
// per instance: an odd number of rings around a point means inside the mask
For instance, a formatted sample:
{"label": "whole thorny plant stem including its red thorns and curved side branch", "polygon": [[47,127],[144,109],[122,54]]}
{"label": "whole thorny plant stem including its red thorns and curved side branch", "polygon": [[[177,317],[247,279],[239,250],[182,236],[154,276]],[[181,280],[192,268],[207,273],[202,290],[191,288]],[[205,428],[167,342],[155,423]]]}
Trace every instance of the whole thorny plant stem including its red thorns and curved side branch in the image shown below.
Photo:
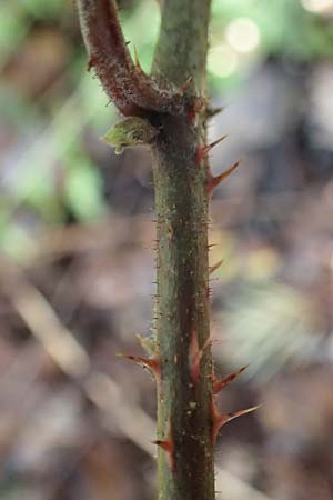
{"label": "whole thorny plant stem including its red thorns and curved side branch", "polygon": [[[160,1],[161,30],[150,77],[130,57],[114,0],[77,3],[89,66],[122,114],[140,117],[119,124],[111,143],[120,151],[145,141],[153,152],[155,351],[148,360],[125,358],[149,368],[157,381],[159,499],[214,500],[219,429],[253,409],[220,413],[215,394],[244,368],[222,380],[212,369],[209,272],[221,262],[209,268],[209,201],[236,164],[214,178],[208,162],[208,152],[223,139],[206,144],[211,0]],[[151,128],[155,133],[148,140]]]}

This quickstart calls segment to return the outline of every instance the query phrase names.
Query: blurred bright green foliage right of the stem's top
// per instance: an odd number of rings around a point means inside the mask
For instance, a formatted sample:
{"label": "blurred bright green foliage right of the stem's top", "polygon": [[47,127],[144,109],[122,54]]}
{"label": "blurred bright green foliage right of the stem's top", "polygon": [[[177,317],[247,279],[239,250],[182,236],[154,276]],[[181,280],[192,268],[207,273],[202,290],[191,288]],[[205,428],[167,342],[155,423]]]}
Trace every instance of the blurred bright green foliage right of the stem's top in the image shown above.
{"label": "blurred bright green foliage right of the stem's top", "polygon": [[304,62],[332,56],[333,22],[323,16],[326,11],[320,9],[322,2],[314,1],[312,11],[310,3],[306,0],[214,1],[209,60],[214,88],[221,83],[235,84],[242,71],[268,56]]}

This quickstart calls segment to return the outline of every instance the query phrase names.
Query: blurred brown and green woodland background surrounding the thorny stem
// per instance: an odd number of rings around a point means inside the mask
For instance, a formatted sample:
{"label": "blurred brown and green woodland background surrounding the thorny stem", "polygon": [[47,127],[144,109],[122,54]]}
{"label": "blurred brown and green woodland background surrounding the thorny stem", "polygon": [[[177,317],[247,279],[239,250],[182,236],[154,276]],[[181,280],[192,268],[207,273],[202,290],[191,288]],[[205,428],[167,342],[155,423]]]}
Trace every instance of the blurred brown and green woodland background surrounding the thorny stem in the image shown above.
{"label": "blurred brown and green woodland background surrounding the thorny stem", "polygon": [[[154,0],[123,0],[149,70]],[[211,263],[223,500],[333,498],[333,1],[214,0]],[[88,73],[74,2],[0,3],[0,499],[155,499],[153,383],[117,358],[152,329],[147,149]]]}

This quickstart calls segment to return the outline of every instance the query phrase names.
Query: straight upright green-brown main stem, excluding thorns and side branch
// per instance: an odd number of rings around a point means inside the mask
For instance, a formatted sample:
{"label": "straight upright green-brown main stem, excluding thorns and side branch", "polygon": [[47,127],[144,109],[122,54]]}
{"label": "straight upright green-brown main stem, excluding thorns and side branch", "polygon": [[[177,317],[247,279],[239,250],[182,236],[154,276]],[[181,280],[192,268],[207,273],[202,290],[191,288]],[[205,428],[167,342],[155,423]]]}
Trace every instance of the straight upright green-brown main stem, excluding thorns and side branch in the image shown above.
{"label": "straight upright green-brown main stem, excluding thorns and side branch", "polygon": [[[199,96],[205,92],[209,13],[209,0],[165,0],[153,63],[154,74],[174,84],[191,77]],[[169,452],[159,449],[161,500],[214,499],[212,360],[206,346],[208,164],[198,156],[205,143],[205,111],[203,104],[194,118],[160,114],[161,132],[153,147],[161,363],[158,438],[172,444]]]}

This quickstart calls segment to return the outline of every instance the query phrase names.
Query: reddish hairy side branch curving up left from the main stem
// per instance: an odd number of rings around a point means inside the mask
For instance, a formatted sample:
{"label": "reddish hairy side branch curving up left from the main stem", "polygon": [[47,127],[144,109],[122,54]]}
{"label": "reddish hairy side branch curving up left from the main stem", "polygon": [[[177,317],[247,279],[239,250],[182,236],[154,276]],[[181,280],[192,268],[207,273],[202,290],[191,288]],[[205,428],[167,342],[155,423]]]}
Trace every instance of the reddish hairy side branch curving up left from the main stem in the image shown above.
{"label": "reddish hairy side branch curving up left from the main stem", "polygon": [[182,91],[163,89],[137,67],[124,40],[114,0],[77,0],[89,67],[124,116],[184,111]]}

